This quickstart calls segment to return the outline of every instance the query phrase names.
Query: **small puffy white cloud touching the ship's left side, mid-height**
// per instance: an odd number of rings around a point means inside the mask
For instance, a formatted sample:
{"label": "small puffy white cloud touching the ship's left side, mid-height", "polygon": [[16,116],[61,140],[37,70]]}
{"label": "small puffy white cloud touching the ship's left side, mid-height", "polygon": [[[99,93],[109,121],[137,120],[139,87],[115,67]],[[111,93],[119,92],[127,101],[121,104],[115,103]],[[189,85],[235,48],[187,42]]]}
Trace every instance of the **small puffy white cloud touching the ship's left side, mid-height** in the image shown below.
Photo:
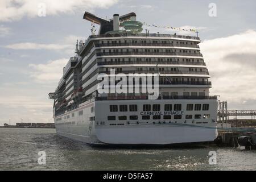
{"label": "small puffy white cloud touching the ship's left side, mid-height", "polygon": [[48,61],[46,64],[29,64],[28,67],[31,68],[30,77],[42,84],[56,83],[63,75],[63,67],[67,62],[68,59],[58,59]]}

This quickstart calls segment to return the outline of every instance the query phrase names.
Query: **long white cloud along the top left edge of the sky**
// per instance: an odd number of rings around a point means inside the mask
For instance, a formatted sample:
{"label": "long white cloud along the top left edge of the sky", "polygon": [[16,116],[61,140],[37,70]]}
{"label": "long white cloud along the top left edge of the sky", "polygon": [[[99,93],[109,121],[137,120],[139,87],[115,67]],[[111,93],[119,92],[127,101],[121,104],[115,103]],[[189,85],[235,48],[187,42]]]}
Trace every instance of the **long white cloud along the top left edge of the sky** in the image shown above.
{"label": "long white cloud along the top left edge of the sky", "polygon": [[19,20],[23,16],[35,18],[40,11],[40,3],[46,5],[46,15],[74,13],[75,11],[106,9],[118,0],[1,0],[0,22]]}

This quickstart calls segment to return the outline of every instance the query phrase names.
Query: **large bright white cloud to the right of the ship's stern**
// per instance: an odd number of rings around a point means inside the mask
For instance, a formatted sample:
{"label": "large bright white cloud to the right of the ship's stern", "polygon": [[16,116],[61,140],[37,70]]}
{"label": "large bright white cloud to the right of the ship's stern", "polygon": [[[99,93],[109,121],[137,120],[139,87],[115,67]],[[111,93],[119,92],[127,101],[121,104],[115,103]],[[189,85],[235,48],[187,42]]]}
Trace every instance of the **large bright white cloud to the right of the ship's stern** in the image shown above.
{"label": "large bright white cloud to the right of the ship's stern", "polygon": [[211,93],[220,95],[221,100],[232,104],[251,104],[250,100],[256,100],[255,37],[256,31],[248,30],[200,44],[212,76]]}

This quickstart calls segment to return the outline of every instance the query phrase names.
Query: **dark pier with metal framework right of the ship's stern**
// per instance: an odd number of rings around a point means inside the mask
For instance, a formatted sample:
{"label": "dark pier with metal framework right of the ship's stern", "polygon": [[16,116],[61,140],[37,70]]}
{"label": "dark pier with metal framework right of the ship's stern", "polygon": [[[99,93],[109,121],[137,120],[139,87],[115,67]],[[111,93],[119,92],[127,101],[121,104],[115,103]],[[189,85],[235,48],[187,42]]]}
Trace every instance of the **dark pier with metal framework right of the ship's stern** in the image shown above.
{"label": "dark pier with metal framework right of the ship's stern", "polygon": [[[230,116],[235,117],[229,119]],[[251,119],[238,119],[238,116],[250,116]],[[256,110],[228,110],[228,102],[218,102],[218,138],[219,146],[256,149]],[[230,130],[229,128],[233,128]]]}

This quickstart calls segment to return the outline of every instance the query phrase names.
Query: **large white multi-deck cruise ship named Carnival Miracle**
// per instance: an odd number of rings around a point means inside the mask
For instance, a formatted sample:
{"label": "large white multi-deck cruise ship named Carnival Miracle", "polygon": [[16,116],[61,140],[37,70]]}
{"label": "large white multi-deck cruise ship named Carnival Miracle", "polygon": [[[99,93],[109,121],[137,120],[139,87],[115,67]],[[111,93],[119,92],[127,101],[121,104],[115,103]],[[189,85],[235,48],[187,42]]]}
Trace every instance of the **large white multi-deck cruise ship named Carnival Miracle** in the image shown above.
{"label": "large white multi-deck cruise ship named Carnival Miracle", "polygon": [[[104,19],[85,12],[84,19],[92,35],[77,40],[75,56],[49,93],[57,134],[92,145],[216,139],[217,96],[209,96],[198,36],[152,34],[135,13]],[[94,24],[100,27],[97,35]],[[148,92],[153,85],[155,92]]]}

